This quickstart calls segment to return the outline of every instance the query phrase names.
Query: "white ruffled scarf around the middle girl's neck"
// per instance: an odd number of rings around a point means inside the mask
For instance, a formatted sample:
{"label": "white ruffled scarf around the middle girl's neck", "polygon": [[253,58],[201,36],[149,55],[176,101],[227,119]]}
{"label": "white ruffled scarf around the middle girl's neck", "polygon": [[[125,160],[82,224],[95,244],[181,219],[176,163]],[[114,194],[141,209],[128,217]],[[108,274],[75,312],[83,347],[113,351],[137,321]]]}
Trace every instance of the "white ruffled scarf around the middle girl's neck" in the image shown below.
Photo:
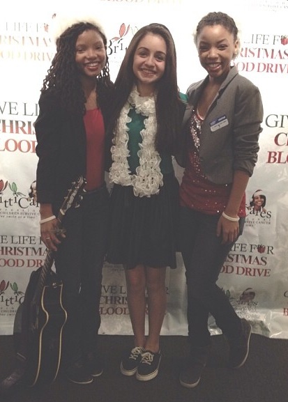
{"label": "white ruffled scarf around the middle girl's neck", "polygon": [[[132,174],[129,169],[128,157],[128,126],[131,118],[128,116],[130,109],[135,108],[136,113],[144,118],[144,129],[140,134],[142,144],[139,144],[139,167]],[[155,149],[157,130],[156,107],[153,97],[140,96],[134,87],[119,115],[114,130],[112,152],[112,167],[109,171],[109,179],[119,185],[132,185],[135,196],[151,196],[158,194],[163,185],[163,175],[160,171],[161,157]]]}

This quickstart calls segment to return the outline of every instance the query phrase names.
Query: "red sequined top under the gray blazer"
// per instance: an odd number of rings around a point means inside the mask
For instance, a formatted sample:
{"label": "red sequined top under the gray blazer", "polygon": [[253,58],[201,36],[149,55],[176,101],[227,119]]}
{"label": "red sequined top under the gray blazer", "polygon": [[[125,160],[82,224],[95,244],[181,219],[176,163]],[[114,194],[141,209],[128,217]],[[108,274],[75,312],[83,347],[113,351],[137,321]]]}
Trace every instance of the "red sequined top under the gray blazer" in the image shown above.
{"label": "red sequined top under the gray blazer", "polygon": [[[212,183],[202,172],[199,161],[199,141],[201,141],[202,120],[193,112],[191,118],[191,137],[188,151],[188,164],[185,168],[180,186],[181,206],[198,210],[207,215],[218,215],[225,210],[231,184]],[[245,217],[245,194],[238,211],[239,217]]]}

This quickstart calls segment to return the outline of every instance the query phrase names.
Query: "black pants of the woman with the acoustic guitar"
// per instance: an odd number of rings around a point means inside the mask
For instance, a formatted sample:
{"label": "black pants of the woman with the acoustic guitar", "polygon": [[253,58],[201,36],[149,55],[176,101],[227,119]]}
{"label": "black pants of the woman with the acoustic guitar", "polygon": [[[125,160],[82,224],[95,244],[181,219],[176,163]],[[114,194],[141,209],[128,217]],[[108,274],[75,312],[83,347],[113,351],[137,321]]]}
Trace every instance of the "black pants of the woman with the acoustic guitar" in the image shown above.
{"label": "black pants of the woman with the acoustic guitar", "polygon": [[70,208],[63,219],[67,233],[56,252],[55,267],[63,281],[63,307],[68,313],[63,331],[64,364],[97,353],[108,219],[106,186],[86,193],[79,208]]}

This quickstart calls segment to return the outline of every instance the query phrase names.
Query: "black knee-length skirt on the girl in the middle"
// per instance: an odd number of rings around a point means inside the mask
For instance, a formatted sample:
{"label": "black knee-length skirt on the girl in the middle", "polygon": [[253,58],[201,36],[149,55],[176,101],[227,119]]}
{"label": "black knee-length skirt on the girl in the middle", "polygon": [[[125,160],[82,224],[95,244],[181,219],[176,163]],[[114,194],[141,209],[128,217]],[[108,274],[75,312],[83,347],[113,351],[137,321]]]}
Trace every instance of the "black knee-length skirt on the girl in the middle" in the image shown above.
{"label": "black knee-length skirt on the girl in the middle", "polygon": [[125,268],[146,265],[176,268],[176,226],[179,182],[174,173],[151,197],[135,196],[132,186],[114,185],[111,193],[111,233],[107,261]]}

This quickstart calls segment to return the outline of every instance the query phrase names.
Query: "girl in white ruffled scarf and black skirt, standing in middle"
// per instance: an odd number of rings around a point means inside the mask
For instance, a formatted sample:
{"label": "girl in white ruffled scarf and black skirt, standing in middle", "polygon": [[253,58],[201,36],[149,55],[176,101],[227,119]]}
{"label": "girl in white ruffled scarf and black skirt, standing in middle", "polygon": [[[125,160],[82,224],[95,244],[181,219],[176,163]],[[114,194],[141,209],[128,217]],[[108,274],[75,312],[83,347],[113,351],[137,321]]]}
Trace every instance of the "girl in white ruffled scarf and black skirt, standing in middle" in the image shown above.
{"label": "girl in white ruffled scarf and black skirt, standing in middle", "polygon": [[115,88],[107,261],[125,267],[134,332],[135,343],[123,355],[121,373],[147,381],[157,376],[161,360],[166,268],[176,268],[179,183],[172,155],[185,110],[177,86],[174,40],[166,26],[149,24],[137,31]]}

